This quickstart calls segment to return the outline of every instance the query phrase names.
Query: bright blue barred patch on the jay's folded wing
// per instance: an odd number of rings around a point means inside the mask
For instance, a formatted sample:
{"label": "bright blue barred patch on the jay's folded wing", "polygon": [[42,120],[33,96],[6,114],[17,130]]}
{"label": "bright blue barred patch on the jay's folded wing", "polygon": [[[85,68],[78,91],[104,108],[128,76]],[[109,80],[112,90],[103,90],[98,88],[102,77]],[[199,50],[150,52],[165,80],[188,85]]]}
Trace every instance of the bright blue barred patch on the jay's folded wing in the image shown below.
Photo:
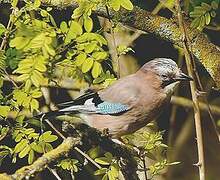
{"label": "bright blue barred patch on the jay's folded wing", "polygon": [[97,105],[96,112],[100,114],[118,114],[127,110],[129,110],[127,105],[105,101]]}

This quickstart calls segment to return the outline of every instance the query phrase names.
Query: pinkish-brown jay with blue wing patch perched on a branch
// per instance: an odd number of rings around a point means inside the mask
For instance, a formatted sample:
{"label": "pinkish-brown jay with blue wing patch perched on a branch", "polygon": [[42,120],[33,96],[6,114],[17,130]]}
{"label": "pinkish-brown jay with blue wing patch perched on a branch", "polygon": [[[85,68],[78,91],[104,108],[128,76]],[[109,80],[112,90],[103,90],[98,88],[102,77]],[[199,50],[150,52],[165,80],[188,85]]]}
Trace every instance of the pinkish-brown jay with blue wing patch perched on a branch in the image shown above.
{"label": "pinkish-brown jay with blue wing patch perched on a branch", "polygon": [[136,73],[122,77],[100,91],[88,91],[78,98],[59,104],[60,109],[40,116],[49,118],[73,114],[82,123],[113,138],[131,134],[158,118],[170,102],[174,87],[190,76],[169,58],[155,58]]}

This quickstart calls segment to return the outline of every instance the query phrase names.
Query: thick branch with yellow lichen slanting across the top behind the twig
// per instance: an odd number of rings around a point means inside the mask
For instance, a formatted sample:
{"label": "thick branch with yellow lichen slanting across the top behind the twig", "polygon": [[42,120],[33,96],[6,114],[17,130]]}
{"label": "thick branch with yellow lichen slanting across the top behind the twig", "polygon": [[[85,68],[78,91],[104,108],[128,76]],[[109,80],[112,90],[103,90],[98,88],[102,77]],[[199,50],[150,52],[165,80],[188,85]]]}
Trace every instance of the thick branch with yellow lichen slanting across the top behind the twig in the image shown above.
{"label": "thick branch with yellow lichen slanting across the top behind the twig", "polygon": [[[73,0],[42,0],[45,5],[55,6],[57,8],[76,8],[77,3]],[[108,18],[105,7],[99,7],[95,14]],[[124,25],[155,34],[160,38],[170,41],[175,45],[183,47],[181,40],[181,32],[178,28],[178,20],[176,17],[167,19],[158,15],[152,15],[150,12],[134,6],[132,11],[121,9],[118,12],[109,11],[111,19],[117,19]],[[209,72],[217,87],[220,88],[220,48],[212,44],[207,36],[190,28],[190,22],[185,21],[189,39],[191,41],[192,53],[200,60],[206,70]]]}

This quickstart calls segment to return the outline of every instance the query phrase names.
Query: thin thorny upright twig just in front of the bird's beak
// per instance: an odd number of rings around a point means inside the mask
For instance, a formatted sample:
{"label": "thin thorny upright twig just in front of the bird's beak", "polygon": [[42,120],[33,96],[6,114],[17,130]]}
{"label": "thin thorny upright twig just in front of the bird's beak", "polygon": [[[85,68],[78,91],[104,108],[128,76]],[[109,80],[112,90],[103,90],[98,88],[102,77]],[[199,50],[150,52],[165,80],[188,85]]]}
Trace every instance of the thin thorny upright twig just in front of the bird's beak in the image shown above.
{"label": "thin thorny upright twig just in front of the bird's beak", "polygon": [[191,54],[189,51],[188,44],[190,41],[187,36],[187,32],[184,26],[183,17],[181,13],[180,7],[180,0],[176,0],[176,9],[177,9],[177,16],[179,21],[179,28],[183,34],[183,48],[185,53],[186,65],[187,70],[190,76],[193,77],[194,81],[190,82],[190,89],[192,94],[193,100],[193,108],[194,108],[194,119],[195,119],[195,126],[196,126],[196,137],[197,137],[197,148],[198,148],[198,168],[199,168],[199,176],[200,180],[205,180],[205,157],[204,157],[204,144],[203,144],[203,137],[202,137],[202,126],[201,126],[201,117],[200,117],[200,109],[199,109],[199,100],[196,94],[196,84],[195,84],[195,77],[193,73],[193,63],[191,59]]}

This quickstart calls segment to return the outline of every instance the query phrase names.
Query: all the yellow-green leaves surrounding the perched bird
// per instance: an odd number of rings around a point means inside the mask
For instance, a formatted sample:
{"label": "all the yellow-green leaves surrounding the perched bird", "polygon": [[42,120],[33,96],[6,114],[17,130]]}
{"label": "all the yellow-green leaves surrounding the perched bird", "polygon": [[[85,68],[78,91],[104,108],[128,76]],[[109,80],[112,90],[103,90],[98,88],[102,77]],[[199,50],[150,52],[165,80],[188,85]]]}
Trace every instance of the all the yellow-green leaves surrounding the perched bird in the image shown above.
{"label": "all the yellow-green leaves surrounding the perched bird", "polygon": [[[57,20],[51,7],[41,6],[41,1],[25,1],[17,5],[11,2],[12,13],[9,26],[0,24],[0,165],[4,159],[16,163],[26,158],[32,164],[37,157],[49,152],[58,144],[45,122],[30,119],[40,111],[43,99],[42,87],[60,87],[62,80],[74,79],[77,87],[93,84],[105,88],[117,77],[113,73],[105,30],[97,25],[92,12],[99,7],[119,11],[132,10],[130,0],[76,0],[78,7],[71,17]],[[173,0],[165,7],[173,9]],[[192,28],[203,30],[206,25],[214,25],[219,1],[199,1],[188,8],[192,18]],[[114,27],[114,26],[113,26]],[[114,30],[113,30],[114,32]],[[133,51],[123,44],[116,49],[119,56]],[[110,65],[109,65],[110,63]],[[107,65],[106,65],[107,64]],[[10,83],[5,90],[5,83]],[[80,84],[81,83],[81,84]],[[12,123],[11,123],[12,121]],[[147,169],[151,176],[158,175],[169,163],[158,159],[154,153],[166,149],[162,132],[141,132],[123,137],[127,147],[138,149],[138,161],[148,157],[155,164]],[[136,142],[139,142],[138,144]],[[120,174],[120,159],[110,152],[91,148],[87,154],[101,166],[94,172],[103,180],[117,179]],[[25,161],[26,161],[25,159]],[[68,157],[60,160],[55,167],[77,173],[84,166],[81,159]],[[146,169],[144,169],[146,171]]]}

